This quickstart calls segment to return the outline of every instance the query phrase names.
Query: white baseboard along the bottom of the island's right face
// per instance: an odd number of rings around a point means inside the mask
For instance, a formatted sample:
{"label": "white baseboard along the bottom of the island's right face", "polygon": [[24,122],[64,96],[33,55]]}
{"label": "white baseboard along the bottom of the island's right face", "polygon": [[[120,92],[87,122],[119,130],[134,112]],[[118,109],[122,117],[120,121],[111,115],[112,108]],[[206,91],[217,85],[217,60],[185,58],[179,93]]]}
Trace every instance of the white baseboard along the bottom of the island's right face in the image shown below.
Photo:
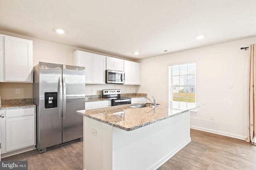
{"label": "white baseboard along the bottom of the island's right face", "polygon": [[162,164],[164,164],[167,160],[169,160],[170,158],[172,158],[172,156],[174,156],[178,151],[180,151],[182,148],[184,148],[186,145],[188,145],[188,143],[191,142],[191,138],[189,138],[187,141],[185,141],[184,143],[182,143],[181,145],[179,145],[176,149],[174,149],[172,152],[170,152],[168,155],[166,155],[164,158],[162,158],[161,160],[159,160],[156,164],[154,164],[153,166],[151,166],[149,168],[149,170],[156,170],[157,168],[159,168]]}

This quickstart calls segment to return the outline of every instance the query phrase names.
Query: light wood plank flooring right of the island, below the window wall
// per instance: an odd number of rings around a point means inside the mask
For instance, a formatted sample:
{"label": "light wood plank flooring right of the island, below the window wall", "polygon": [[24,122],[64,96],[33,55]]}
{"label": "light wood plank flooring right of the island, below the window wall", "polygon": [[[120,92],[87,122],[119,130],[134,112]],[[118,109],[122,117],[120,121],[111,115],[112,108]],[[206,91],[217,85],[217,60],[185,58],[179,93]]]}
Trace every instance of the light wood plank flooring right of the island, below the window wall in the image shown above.
{"label": "light wood plank flooring right of the island, below the window wall", "polygon": [[256,146],[191,129],[191,142],[158,170],[256,170]]}

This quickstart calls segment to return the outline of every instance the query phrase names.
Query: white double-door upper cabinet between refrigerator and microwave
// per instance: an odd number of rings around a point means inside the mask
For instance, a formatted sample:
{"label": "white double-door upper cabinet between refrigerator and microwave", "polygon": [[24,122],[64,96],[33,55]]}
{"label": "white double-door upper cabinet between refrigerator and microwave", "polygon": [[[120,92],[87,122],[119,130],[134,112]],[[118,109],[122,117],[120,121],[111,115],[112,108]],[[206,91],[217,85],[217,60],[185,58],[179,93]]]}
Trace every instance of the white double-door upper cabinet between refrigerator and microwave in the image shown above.
{"label": "white double-door upper cabinet between refrigerator and microwave", "polygon": [[106,56],[77,50],[73,65],[85,67],[86,84],[106,84]]}

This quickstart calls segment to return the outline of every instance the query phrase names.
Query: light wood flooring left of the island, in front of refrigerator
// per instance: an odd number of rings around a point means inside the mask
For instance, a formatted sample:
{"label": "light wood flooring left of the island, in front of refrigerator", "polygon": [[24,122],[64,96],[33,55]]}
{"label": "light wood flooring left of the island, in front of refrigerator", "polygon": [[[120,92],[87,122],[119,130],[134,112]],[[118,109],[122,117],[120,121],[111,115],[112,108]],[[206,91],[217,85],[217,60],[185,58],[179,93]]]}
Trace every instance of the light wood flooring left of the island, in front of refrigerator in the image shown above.
{"label": "light wood flooring left of the island, in front of refrigerator", "polygon": [[31,150],[1,160],[28,161],[28,170],[83,170],[83,141],[47,150]]}

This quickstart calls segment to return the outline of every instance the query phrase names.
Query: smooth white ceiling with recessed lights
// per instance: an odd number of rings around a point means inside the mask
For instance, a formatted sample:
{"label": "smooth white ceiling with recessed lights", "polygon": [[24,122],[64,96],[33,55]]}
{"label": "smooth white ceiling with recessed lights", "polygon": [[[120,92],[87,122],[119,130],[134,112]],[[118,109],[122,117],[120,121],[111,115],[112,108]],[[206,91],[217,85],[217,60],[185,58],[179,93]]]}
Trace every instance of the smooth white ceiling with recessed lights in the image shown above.
{"label": "smooth white ceiling with recessed lights", "polygon": [[128,59],[256,36],[256,0],[0,0],[0,16],[2,31]]}

